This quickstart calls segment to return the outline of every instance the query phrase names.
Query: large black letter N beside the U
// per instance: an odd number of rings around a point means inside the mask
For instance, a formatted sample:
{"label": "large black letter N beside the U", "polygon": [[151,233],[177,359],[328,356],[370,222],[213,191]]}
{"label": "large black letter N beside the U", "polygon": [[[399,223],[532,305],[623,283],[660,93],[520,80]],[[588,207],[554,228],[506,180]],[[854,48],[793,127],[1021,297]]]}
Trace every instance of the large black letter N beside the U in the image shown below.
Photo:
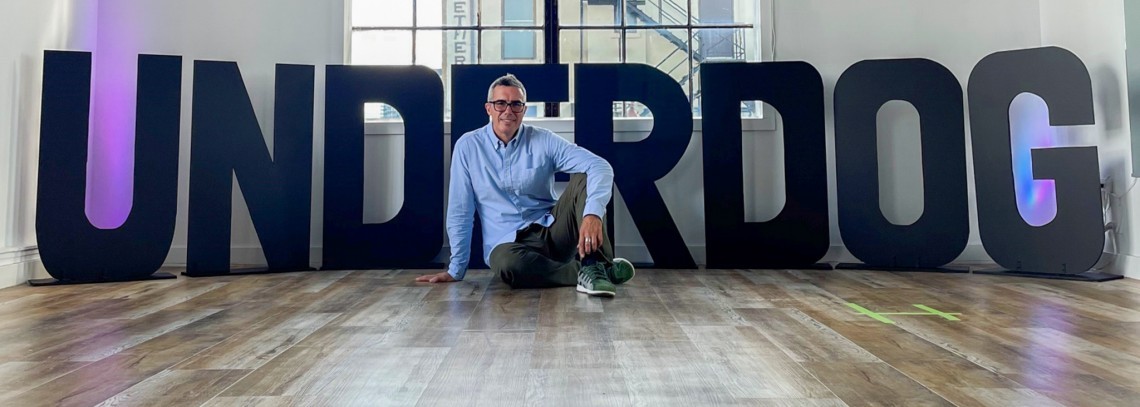
{"label": "large black letter N beside the U", "polygon": [[312,66],[277,65],[269,156],[237,64],[194,62],[187,276],[229,272],[234,174],[269,271],[309,269]]}

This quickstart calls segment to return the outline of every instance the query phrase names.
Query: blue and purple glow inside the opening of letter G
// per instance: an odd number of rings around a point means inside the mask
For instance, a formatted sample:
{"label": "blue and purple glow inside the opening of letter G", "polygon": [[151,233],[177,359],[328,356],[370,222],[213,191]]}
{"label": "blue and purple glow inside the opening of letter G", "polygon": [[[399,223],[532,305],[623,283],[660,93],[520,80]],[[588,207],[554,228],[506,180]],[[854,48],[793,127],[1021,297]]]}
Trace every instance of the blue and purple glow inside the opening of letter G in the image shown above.
{"label": "blue and purple glow inside the opening of letter G", "polygon": [[1009,105],[1009,130],[1013,149],[1013,188],[1017,211],[1032,226],[1043,226],[1057,217],[1053,180],[1033,179],[1033,148],[1057,146],[1057,130],[1049,125],[1049,107],[1041,97],[1021,93]]}

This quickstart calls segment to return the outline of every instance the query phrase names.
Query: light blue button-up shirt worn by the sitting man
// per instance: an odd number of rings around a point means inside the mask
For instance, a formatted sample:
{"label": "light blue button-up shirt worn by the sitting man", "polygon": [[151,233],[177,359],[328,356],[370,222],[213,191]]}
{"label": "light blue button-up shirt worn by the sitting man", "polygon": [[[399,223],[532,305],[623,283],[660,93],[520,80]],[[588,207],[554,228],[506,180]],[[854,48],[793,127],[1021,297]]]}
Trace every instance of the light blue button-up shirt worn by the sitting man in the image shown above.
{"label": "light blue button-up shirt worn by the sitting man", "polygon": [[495,136],[490,124],[459,138],[451,153],[447,236],[451,259],[447,272],[463,279],[471,259],[475,212],[483,226],[483,261],[491,250],[514,242],[531,223],[554,223],[557,201],[554,172],[586,173],[586,211],[605,215],[613,189],[613,168],[602,157],[554,132],[523,124],[511,143]]}

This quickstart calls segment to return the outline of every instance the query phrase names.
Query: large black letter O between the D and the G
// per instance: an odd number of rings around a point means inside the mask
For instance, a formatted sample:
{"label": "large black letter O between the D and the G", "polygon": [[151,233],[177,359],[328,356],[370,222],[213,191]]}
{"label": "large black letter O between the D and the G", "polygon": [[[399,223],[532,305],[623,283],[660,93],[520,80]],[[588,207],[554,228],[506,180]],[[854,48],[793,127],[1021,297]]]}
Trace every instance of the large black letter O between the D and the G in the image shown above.
{"label": "large black letter O between the D and the G", "polygon": [[[922,217],[894,225],[879,203],[876,116],[890,100],[919,112],[922,138]],[[866,266],[937,268],[966,249],[970,235],[966,193],[962,87],[929,59],[864,60],[836,83],[836,184],[839,231]]]}

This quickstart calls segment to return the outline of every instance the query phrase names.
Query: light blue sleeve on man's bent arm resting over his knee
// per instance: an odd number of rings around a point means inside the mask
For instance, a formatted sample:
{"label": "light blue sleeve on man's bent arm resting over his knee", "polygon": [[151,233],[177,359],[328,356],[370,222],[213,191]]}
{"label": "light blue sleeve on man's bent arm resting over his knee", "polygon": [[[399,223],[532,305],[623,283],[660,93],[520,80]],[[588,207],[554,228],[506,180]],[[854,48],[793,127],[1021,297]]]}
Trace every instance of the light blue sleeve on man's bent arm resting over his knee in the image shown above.
{"label": "light blue sleeve on man's bent arm resting over his knee", "polygon": [[567,141],[553,132],[547,136],[556,171],[586,173],[586,210],[583,215],[605,218],[605,205],[613,195],[613,168],[605,158],[581,146]]}

